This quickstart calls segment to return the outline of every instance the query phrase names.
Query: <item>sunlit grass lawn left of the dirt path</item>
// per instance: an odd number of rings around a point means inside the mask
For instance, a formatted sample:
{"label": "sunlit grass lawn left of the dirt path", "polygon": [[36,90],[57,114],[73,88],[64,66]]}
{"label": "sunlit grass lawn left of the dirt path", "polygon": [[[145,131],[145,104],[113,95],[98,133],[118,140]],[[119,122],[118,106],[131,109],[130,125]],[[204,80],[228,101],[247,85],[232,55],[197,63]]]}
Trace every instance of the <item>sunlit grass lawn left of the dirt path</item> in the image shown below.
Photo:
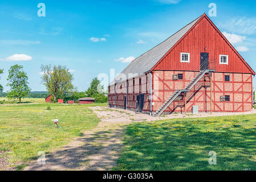
{"label": "sunlit grass lawn left of the dirt path", "polygon": [[[99,119],[88,106],[99,105],[106,104],[0,105],[0,151],[7,151],[14,166],[24,166],[36,159],[39,151],[56,150],[83,130],[95,127]],[[55,117],[59,118],[59,129],[54,127]]]}

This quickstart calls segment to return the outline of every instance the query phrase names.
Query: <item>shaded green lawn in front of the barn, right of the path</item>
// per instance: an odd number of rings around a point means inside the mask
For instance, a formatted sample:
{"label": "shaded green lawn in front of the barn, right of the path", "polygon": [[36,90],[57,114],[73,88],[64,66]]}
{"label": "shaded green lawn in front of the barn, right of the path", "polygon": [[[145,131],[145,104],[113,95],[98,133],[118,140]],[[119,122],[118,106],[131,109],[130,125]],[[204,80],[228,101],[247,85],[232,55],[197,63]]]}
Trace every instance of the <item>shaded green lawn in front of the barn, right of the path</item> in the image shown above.
{"label": "shaded green lawn in front of the barn, right of the path", "polygon": [[256,170],[255,121],[254,114],[132,123],[114,169]]}

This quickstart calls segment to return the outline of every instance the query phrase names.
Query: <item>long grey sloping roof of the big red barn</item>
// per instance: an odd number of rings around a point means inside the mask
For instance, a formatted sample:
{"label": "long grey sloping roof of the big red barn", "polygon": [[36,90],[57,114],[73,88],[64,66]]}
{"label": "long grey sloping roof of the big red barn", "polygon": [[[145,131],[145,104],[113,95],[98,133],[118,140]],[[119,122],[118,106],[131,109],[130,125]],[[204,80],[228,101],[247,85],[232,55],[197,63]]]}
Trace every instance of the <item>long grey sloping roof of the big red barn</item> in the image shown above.
{"label": "long grey sloping roof of the big red barn", "polygon": [[[201,15],[203,16],[203,15]],[[196,22],[201,18],[193,20],[193,22],[186,25],[181,30],[177,31],[175,34],[170,36],[164,42],[158,44],[156,47],[152,48],[148,52],[145,52],[143,55],[137,57],[132,61],[120,75],[117,75],[115,78],[115,83],[125,81],[130,78],[133,78],[143,73],[147,73],[153,68],[158,61],[196,24]],[[114,80],[110,85],[114,84]]]}

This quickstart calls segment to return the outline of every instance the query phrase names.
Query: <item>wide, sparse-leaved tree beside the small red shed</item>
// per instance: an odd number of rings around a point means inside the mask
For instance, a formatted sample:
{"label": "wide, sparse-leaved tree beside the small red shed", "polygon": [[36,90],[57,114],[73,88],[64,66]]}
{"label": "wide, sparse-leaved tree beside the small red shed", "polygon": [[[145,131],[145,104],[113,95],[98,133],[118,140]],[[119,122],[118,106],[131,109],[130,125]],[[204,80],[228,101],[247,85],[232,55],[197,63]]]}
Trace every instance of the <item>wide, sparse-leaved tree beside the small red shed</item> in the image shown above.
{"label": "wide, sparse-leaved tree beside the small red shed", "polygon": [[64,98],[72,92],[74,86],[73,75],[68,72],[68,68],[63,65],[41,65],[43,73],[42,82],[46,86],[47,92],[54,96],[54,101]]}

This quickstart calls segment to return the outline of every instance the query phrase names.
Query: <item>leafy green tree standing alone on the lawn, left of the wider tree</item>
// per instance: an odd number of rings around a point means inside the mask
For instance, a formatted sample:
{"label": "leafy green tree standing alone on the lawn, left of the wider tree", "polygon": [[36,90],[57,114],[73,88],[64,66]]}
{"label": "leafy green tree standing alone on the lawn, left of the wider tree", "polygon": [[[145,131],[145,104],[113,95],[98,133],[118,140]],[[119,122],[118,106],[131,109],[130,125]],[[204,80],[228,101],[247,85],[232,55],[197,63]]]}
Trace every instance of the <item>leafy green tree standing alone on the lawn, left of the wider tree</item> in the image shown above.
{"label": "leafy green tree standing alone on the lawn, left of the wider tree", "polygon": [[9,82],[7,86],[10,86],[10,91],[7,93],[8,98],[18,98],[19,103],[21,103],[21,98],[29,95],[31,89],[28,84],[29,78],[27,74],[22,70],[22,65],[13,65],[9,69],[9,75],[7,81]]}

